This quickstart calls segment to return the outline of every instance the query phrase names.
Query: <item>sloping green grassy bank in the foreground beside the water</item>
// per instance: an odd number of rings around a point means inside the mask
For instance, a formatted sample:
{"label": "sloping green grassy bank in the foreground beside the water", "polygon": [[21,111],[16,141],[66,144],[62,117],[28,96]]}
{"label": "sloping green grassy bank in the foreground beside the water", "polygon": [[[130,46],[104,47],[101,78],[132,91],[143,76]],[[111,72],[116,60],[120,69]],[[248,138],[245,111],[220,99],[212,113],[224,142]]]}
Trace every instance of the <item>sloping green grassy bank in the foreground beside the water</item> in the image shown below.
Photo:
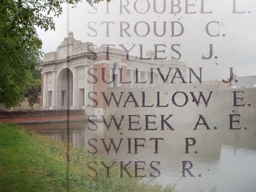
{"label": "sloping green grassy bank in the foreground beside the water", "polygon": [[111,166],[106,177],[106,168],[95,166],[102,160],[63,141],[0,123],[0,191],[175,191],[120,177],[119,166]]}

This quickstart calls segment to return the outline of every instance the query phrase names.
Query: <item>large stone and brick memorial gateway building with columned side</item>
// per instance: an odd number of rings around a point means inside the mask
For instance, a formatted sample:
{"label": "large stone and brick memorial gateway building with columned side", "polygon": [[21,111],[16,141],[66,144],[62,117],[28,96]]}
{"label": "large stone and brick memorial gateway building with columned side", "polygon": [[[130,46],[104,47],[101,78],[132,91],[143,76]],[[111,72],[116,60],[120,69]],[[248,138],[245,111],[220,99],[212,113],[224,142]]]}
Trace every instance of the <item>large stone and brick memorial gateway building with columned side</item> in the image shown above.
{"label": "large stone and brick memorial gateway building with columned side", "polygon": [[[164,76],[170,77],[177,73],[175,70],[170,72],[170,67],[178,67],[177,74],[182,73],[185,78],[185,63],[153,59],[153,51],[149,51],[147,56],[151,56],[151,59],[127,56],[124,50],[116,48],[94,48],[91,42],[75,40],[70,32],[56,51],[43,56],[41,73],[44,109],[85,109],[86,114],[100,115],[104,114],[106,107],[101,92],[107,92],[108,87],[168,85],[168,82],[161,81],[156,68],[160,68]],[[136,83],[141,81],[147,82]],[[175,78],[171,83],[179,84],[180,78]]]}

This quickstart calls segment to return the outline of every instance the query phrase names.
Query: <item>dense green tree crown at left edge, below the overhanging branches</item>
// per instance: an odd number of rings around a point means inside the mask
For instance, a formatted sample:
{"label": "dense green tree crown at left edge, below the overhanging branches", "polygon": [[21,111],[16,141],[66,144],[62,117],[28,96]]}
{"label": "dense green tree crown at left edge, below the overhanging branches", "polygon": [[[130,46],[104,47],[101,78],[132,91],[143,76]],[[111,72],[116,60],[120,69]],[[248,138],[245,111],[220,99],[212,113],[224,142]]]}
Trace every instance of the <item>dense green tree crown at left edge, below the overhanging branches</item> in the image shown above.
{"label": "dense green tree crown at left edge, below the overhanging branches", "polygon": [[24,39],[24,35],[14,31],[2,32],[7,27],[0,21],[0,103],[14,106],[24,100],[33,81],[31,71],[40,63],[41,40]]}

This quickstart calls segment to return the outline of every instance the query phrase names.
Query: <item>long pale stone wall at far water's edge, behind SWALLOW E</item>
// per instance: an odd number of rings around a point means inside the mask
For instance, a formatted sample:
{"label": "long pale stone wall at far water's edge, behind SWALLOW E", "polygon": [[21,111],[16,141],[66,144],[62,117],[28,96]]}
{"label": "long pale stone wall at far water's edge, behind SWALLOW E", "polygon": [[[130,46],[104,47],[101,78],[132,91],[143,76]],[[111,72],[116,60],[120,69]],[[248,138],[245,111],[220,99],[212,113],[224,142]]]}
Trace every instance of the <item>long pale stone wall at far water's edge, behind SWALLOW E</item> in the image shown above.
{"label": "long pale stone wall at far water's edge, behind SWALLOW E", "polygon": [[[131,116],[131,121],[136,127],[139,127],[141,123],[145,123],[146,115],[151,115],[148,119],[148,121],[152,122],[150,123],[151,127],[155,127],[153,121],[156,124],[161,123],[160,115],[164,115],[164,118],[172,115],[168,122],[181,125],[195,125],[199,115],[202,115],[207,123],[212,123],[213,125],[228,123],[229,114],[240,114],[240,118],[243,119],[256,117],[256,88],[219,90],[217,85],[182,84],[139,89],[116,87],[108,88],[107,91],[108,100],[111,92],[115,95],[117,101],[120,96],[121,99],[117,107],[113,97],[111,98],[109,106],[106,107],[105,118],[110,120],[114,115],[119,122],[122,118],[121,116],[124,115],[123,120],[129,121],[129,115],[134,115]],[[244,93],[237,92],[236,95],[237,104],[244,104],[244,106],[233,106],[233,91],[244,91]],[[202,97],[197,106],[191,92],[193,92],[197,100],[200,92],[203,93],[205,100],[212,92],[207,106],[205,106]],[[238,97],[243,97],[243,100]],[[187,103],[185,103],[185,100],[187,100]],[[234,120],[237,119],[236,117],[234,117]],[[100,119],[101,117],[97,118]],[[139,122],[136,123],[135,121]],[[202,123],[202,119],[199,122]]]}

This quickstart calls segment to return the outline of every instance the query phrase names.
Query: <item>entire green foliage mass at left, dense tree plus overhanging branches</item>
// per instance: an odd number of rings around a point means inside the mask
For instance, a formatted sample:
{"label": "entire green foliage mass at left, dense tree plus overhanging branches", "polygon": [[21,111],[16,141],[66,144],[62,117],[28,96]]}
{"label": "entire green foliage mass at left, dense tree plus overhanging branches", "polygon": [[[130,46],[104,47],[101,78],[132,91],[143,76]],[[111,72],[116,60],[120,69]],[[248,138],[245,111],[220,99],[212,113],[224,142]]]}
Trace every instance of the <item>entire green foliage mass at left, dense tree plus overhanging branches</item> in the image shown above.
{"label": "entire green foliage mass at left, dense tree plus overhanging branches", "polygon": [[[59,16],[63,3],[75,6],[79,1],[0,0],[0,103],[17,105],[31,88],[31,72],[42,56],[35,26],[54,29],[51,15]],[[92,4],[100,0],[85,1]]]}

